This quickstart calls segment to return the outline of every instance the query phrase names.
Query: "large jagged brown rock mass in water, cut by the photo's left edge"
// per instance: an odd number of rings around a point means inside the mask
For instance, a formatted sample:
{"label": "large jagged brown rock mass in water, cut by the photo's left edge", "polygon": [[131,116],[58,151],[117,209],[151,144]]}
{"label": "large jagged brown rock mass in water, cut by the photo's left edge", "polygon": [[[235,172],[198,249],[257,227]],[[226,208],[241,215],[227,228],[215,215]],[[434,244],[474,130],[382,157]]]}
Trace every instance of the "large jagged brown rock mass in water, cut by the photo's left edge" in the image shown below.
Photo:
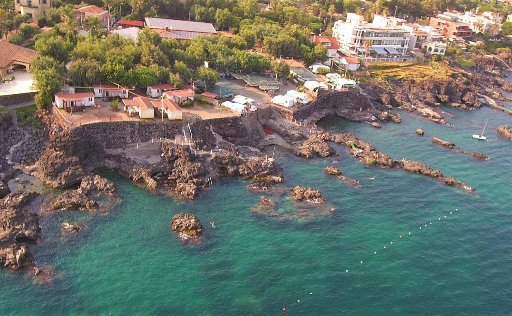
{"label": "large jagged brown rock mass in water, cut by the photo's left edge", "polygon": [[35,263],[30,245],[41,238],[39,217],[27,211],[37,193],[11,193],[0,201],[0,267],[25,269]]}

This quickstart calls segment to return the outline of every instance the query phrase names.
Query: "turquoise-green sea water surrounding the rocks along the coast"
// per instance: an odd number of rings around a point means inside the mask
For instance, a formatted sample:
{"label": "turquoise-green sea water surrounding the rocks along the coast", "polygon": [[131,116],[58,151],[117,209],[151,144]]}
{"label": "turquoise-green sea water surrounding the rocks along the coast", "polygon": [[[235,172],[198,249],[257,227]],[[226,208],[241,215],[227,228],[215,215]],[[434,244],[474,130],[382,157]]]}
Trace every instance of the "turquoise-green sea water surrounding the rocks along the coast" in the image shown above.
{"label": "turquoise-green sea water surrounding the rocks along the coast", "polygon": [[[509,314],[512,141],[496,128],[512,123],[512,116],[447,109],[457,116],[449,118],[455,127],[404,112],[402,124],[382,129],[339,118],[321,126],[353,131],[395,159],[424,161],[474,186],[476,194],[362,165],[336,145],[340,156],[331,159],[278,155],[288,186],[318,188],[336,207],[334,215],[314,221],[250,213],[259,194],[239,179],[223,180],[195,201],[176,202],[106,173],[124,202],[108,216],[44,216],[44,243],[33,249],[40,266],[55,266],[57,278],[38,285],[1,270],[0,313],[240,315],[283,314],[286,307],[301,315]],[[492,142],[473,140],[487,118]],[[424,137],[415,134],[418,127]],[[491,160],[435,146],[433,136]],[[334,160],[362,186],[324,174]],[[179,212],[197,214],[206,229],[203,244],[183,245],[169,230]],[[62,238],[60,223],[78,219],[86,229]]]}

